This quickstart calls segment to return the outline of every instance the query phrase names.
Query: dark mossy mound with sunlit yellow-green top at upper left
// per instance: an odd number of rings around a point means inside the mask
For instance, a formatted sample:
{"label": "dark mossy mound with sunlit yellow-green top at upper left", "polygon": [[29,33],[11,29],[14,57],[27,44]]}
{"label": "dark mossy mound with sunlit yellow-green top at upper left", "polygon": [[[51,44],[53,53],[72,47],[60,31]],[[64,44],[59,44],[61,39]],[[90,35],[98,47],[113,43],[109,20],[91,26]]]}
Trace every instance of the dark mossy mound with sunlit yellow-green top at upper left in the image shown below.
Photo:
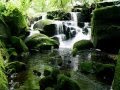
{"label": "dark mossy mound with sunlit yellow-green top at upper left", "polygon": [[11,35],[19,36],[27,28],[27,19],[16,6],[6,4],[6,10],[3,12],[5,23],[10,28]]}

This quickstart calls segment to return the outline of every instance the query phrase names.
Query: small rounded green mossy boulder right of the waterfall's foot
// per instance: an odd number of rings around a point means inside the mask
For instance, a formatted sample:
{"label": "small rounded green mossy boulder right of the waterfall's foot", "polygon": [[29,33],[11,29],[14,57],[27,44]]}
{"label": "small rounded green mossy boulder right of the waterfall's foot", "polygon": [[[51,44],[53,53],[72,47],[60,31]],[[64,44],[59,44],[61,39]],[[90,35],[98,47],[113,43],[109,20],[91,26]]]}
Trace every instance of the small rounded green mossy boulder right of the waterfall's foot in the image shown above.
{"label": "small rounded green mossy boulder right of the waterfall's foot", "polygon": [[76,55],[77,51],[93,48],[93,44],[90,40],[80,40],[73,46],[73,55]]}

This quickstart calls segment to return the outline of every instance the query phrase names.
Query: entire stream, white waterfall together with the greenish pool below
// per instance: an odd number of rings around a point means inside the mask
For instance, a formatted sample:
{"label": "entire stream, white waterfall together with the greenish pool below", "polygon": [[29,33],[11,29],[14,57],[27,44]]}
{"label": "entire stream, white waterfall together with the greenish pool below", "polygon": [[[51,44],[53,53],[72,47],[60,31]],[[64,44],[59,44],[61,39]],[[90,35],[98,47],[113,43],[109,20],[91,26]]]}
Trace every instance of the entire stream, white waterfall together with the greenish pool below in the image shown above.
{"label": "entire stream, white waterfall together with the greenish pool below", "polygon": [[[24,84],[19,86],[19,89],[14,89],[14,87],[10,90],[39,90],[39,81],[43,77],[44,69],[51,69],[52,67],[59,68],[61,71],[69,71],[71,78],[78,81],[81,90],[110,90],[109,85],[94,79],[92,80],[79,71],[80,62],[84,59],[88,61],[91,59],[91,51],[80,53],[75,57],[71,54],[75,42],[83,39],[91,39],[89,23],[85,23],[84,28],[87,28],[88,32],[84,34],[83,28],[77,25],[77,14],[77,12],[71,12],[70,21],[54,21],[56,24],[55,37],[58,37],[60,42],[59,49],[31,54],[28,62],[29,70],[27,71],[27,79],[24,81]],[[42,20],[44,19],[46,19],[46,14],[43,14]],[[35,23],[37,23],[37,21],[34,22],[34,24]],[[34,24],[31,25],[30,35],[39,33],[39,31],[33,30]],[[68,38],[66,37],[65,30],[69,30]],[[33,70],[41,72],[41,76],[36,76]]]}

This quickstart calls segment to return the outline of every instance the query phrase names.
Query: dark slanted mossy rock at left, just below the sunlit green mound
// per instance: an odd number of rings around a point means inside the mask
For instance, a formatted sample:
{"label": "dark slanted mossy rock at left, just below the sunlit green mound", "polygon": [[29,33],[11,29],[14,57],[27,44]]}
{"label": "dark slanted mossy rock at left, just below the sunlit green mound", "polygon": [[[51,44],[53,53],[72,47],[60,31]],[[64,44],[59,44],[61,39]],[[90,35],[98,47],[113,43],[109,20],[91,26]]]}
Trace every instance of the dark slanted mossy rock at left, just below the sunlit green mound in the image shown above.
{"label": "dark slanted mossy rock at left, just below the sunlit green mound", "polygon": [[11,37],[11,44],[16,49],[17,53],[28,52],[28,47],[22,39],[16,36]]}

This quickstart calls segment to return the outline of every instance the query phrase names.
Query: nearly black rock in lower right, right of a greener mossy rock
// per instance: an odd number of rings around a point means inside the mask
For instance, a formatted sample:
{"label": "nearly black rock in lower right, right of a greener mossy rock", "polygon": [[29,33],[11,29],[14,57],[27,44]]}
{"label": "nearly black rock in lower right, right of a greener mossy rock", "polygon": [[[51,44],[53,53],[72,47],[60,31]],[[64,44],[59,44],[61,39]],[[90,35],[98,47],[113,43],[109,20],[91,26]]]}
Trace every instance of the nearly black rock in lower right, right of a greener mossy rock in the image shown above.
{"label": "nearly black rock in lower right, right of a greener mossy rock", "polygon": [[93,66],[98,80],[101,82],[112,84],[115,72],[115,65],[112,64],[97,64]]}

